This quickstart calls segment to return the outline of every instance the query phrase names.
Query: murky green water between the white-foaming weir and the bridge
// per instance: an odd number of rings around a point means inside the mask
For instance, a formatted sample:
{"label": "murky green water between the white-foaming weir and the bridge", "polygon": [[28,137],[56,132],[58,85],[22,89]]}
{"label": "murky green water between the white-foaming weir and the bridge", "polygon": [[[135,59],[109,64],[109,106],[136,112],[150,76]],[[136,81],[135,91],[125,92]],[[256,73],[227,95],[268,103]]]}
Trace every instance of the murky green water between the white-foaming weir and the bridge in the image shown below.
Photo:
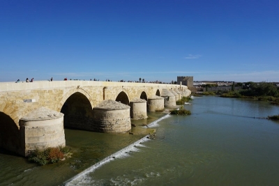
{"label": "murky green water between the white-foaming weir and the bridge", "polygon": [[[147,124],[162,116],[165,114],[151,113],[149,118],[132,123]],[[132,132],[135,134],[104,134],[65,129],[66,145],[73,148],[72,157],[45,166],[36,166],[27,162],[24,157],[0,149],[0,185],[62,185],[89,166],[141,139],[150,130],[139,126],[134,127]]]}

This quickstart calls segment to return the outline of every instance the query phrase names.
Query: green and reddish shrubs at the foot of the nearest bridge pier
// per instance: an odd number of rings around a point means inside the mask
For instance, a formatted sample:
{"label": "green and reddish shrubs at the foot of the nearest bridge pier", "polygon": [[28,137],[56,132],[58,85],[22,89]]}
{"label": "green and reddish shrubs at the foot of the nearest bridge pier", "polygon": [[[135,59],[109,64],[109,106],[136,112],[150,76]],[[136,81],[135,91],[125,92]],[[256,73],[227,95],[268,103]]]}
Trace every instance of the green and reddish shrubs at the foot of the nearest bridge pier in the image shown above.
{"label": "green and reddish shrubs at the foot of the nearest bridge pier", "polygon": [[65,160],[65,157],[70,155],[70,150],[68,146],[30,150],[28,160],[39,165],[53,164]]}

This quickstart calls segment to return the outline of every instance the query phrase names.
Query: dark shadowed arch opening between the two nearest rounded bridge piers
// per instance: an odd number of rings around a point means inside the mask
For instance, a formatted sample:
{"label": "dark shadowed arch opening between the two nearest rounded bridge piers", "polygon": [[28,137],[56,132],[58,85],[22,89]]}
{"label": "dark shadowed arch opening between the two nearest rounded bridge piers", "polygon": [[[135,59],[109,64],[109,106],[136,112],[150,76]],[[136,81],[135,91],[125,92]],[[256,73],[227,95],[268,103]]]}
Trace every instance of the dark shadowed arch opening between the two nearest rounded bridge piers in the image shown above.
{"label": "dark shadowed arch opening between the two nearest rounded bridge piers", "polygon": [[93,130],[93,111],[91,102],[80,92],[68,97],[61,107],[64,114],[64,127],[80,130]]}

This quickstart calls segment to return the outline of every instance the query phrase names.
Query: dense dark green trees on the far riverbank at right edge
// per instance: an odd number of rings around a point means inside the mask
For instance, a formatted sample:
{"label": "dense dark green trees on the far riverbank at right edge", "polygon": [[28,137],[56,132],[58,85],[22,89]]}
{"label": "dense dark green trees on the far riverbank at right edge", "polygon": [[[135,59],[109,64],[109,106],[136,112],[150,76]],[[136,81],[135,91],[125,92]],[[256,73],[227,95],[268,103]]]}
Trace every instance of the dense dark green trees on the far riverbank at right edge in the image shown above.
{"label": "dense dark green trees on the far riverbank at right edge", "polygon": [[220,95],[223,98],[253,98],[255,100],[270,101],[271,104],[279,104],[279,87],[273,83],[254,83],[247,82],[243,88]]}

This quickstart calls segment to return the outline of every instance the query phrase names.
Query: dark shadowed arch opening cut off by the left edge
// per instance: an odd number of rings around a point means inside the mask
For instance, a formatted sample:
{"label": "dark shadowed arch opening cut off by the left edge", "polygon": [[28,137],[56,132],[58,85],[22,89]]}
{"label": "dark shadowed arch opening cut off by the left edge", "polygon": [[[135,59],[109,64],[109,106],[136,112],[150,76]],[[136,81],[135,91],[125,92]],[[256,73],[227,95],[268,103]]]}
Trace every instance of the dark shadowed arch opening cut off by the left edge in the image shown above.
{"label": "dark shadowed arch opening cut off by the left edge", "polygon": [[[20,130],[10,116],[0,111],[0,148],[20,153]],[[1,150],[2,151],[2,150]]]}

